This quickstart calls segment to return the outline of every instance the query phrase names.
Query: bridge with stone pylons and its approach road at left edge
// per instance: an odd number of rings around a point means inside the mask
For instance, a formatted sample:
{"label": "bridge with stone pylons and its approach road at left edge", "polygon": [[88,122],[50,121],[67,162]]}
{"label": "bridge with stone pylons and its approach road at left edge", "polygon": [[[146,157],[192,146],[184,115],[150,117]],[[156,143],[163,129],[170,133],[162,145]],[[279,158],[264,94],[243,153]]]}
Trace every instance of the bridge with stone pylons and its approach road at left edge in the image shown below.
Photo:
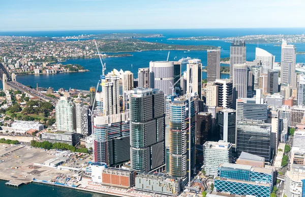
{"label": "bridge with stone pylons and its approach road at left edge", "polygon": [[8,70],[4,67],[2,63],[0,63],[0,80],[3,83],[3,90],[19,90],[29,96],[38,97],[47,102],[51,102],[52,105],[56,105],[57,99],[46,96],[32,88],[22,85],[21,83],[16,81],[15,73],[12,73],[10,76]]}

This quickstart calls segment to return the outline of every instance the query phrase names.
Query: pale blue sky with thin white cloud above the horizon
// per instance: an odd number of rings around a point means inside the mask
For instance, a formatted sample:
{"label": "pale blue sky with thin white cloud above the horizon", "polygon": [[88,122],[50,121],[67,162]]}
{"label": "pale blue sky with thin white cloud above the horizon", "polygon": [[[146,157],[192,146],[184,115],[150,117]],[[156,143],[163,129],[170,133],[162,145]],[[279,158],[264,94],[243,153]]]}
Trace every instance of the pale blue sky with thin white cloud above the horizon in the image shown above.
{"label": "pale blue sky with thin white cloud above the horizon", "polygon": [[305,27],[304,0],[0,0],[0,31]]}

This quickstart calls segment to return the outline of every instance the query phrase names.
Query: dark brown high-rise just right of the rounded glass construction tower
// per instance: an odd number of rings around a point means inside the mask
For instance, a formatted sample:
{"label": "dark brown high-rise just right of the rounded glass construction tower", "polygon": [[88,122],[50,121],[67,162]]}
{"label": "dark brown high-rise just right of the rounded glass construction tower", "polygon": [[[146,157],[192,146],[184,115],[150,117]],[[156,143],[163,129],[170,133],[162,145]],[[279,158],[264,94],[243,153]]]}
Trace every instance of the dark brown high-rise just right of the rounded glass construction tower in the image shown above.
{"label": "dark brown high-rise just right of the rounded glass construction tower", "polygon": [[203,145],[212,133],[212,115],[207,112],[197,114],[196,144]]}

